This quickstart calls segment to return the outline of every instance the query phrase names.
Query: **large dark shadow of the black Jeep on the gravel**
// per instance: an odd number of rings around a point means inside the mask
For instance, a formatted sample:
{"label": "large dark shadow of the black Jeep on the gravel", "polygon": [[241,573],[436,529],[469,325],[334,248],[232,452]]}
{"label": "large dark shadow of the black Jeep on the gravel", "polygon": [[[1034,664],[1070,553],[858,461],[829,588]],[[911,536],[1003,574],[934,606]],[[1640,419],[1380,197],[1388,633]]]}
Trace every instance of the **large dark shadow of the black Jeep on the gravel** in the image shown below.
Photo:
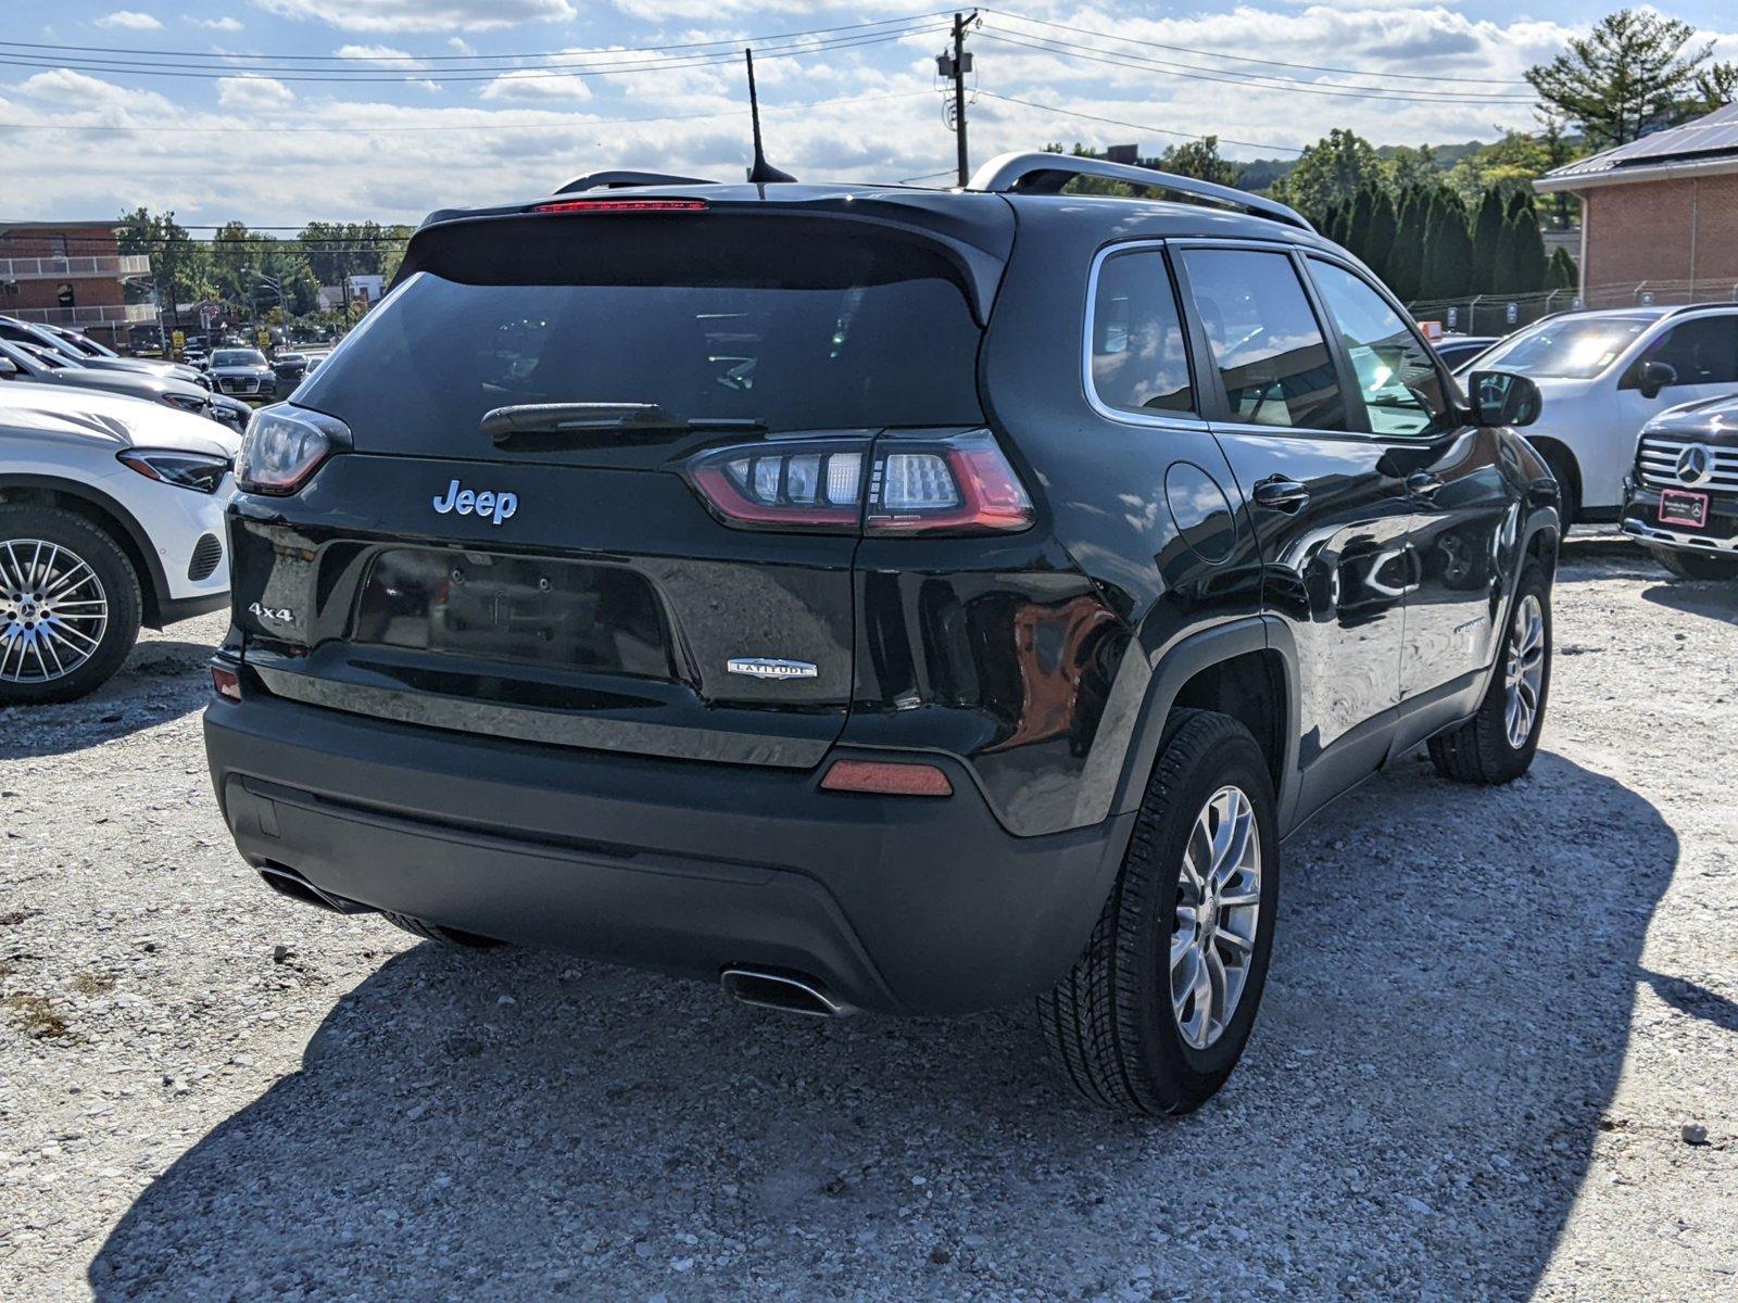
{"label": "large dark shadow of the black Jeep on the gravel", "polygon": [[1675,862],[1649,803],[1559,756],[1500,790],[1403,761],[1291,841],[1250,1055],[1173,1121],[1074,1101],[1025,1009],[810,1023],[422,945],[137,1197],[89,1282],[1524,1298],[1589,1178]]}

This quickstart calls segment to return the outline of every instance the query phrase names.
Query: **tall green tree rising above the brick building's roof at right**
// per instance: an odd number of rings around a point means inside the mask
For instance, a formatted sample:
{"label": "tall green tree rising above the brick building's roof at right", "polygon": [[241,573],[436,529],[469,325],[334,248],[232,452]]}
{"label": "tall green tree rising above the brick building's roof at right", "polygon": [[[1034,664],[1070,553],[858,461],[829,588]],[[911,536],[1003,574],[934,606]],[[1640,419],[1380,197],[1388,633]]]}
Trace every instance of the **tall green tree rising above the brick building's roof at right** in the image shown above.
{"label": "tall green tree rising above the brick building's roof at right", "polygon": [[1595,149],[1627,144],[1686,116],[1696,73],[1714,52],[1712,43],[1691,45],[1695,36],[1675,17],[1620,9],[1550,63],[1529,68],[1526,80]]}

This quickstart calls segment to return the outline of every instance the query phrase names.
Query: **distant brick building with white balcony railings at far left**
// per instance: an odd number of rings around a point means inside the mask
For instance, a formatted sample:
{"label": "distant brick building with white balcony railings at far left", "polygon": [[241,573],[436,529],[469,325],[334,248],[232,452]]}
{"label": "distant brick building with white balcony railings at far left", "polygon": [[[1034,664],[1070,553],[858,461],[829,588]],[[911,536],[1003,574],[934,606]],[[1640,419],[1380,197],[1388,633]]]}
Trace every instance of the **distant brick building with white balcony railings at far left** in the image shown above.
{"label": "distant brick building with white balcony railings at far left", "polygon": [[125,346],[127,328],[153,323],[156,309],[127,302],[125,281],[149,276],[151,261],[122,254],[116,226],[0,221],[0,314]]}

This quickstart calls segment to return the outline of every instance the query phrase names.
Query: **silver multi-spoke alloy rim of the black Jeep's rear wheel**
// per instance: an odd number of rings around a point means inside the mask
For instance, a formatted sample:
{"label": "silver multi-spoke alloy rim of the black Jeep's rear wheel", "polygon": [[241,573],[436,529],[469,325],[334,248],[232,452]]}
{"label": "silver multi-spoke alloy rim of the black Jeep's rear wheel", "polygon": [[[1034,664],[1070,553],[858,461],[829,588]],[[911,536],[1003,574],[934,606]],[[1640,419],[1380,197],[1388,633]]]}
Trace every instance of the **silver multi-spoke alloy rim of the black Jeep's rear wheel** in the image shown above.
{"label": "silver multi-spoke alloy rim of the black Jeep's rear wheel", "polygon": [[1241,787],[1220,787],[1196,815],[1177,874],[1171,1011],[1196,1049],[1225,1032],[1255,957],[1262,916],[1262,832]]}

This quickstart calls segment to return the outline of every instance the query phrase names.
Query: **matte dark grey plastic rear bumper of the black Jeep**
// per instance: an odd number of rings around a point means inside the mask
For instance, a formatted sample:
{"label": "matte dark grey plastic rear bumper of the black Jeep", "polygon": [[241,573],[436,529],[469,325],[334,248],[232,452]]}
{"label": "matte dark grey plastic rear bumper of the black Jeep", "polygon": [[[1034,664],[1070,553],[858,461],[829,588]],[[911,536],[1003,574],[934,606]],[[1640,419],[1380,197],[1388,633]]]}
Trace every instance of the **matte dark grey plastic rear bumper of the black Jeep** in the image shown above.
{"label": "matte dark grey plastic rear bumper of the black Jeep", "polygon": [[1048,989],[1133,823],[1015,837],[945,761],[949,799],[822,792],[819,770],[539,747],[266,695],[214,700],[205,744],[242,853],[322,891],[711,980],[791,969],[888,1013]]}

